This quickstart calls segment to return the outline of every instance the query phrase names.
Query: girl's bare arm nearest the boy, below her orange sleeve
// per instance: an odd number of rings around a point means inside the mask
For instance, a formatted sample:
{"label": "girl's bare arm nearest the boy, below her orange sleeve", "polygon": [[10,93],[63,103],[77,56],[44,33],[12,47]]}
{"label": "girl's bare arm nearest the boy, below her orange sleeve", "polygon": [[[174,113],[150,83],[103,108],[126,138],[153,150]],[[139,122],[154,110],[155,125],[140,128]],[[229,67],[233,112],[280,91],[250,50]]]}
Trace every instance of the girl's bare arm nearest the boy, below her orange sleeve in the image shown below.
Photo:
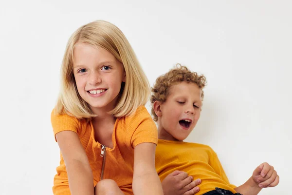
{"label": "girl's bare arm nearest the boy, below her orange sleeve", "polygon": [[140,143],[134,149],[134,195],[163,195],[160,179],[155,170],[154,143]]}

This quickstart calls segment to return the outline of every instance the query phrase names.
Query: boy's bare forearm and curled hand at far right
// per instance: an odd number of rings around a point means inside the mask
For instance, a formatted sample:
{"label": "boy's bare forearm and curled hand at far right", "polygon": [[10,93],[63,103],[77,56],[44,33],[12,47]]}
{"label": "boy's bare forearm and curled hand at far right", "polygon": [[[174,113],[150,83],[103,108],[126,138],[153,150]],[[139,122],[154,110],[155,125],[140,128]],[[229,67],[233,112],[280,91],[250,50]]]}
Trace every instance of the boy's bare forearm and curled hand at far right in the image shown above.
{"label": "boy's bare forearm and curled hand at far right", "polygon": [[279,176],[274,167],[264,162],[256,168],[253,176],[234,190],[243,195],[257,195],[262,188],[274,187],[278,183]]}

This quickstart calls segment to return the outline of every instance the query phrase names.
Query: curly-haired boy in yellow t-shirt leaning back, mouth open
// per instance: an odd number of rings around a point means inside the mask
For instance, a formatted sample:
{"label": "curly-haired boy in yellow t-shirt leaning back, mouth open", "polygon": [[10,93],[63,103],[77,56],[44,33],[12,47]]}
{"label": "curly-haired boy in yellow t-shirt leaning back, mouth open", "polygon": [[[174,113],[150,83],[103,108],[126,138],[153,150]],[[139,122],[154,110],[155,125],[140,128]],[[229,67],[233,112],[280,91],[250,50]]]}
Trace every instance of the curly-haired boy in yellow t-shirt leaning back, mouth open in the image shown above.
{"label": "curly-haired boy in yellow t-shirt leaning back, mouth open", "polygon": [[205,84],[204,76],[178,64],[157,78],[152,89],[152,115],[159,131],[155,166],[164,195],[257,195],[262,188],[276,186],[279,176],[274,167],[262,163],[236,187],[212,148],[183,142],[200,118]]}

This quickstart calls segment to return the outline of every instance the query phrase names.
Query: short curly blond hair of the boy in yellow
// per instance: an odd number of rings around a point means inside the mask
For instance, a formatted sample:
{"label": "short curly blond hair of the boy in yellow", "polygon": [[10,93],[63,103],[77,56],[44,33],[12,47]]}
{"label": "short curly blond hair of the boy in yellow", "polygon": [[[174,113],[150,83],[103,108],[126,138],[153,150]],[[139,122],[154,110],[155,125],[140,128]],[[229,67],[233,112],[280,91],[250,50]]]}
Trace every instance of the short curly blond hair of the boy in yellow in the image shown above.
{"label": "short curly blond hair of the boy in yellow", "polygon": [[198,75],[196,72],[191,72],[186,66],[181,64],[176,64],[176,67],[165,73],[164,75],[158,77],[151,89],[151,105],[152,105],[152,116],[153,120],[157,121],[157,115],[153,109],[153,103],[155,101],[165,102],[169,95],[169,90],[171,86],[176,85],[181,82],[192,82],[198,85],[201,89],[201,99],[204,98],[203,88],[207,84],[206,78],[203,75]]}

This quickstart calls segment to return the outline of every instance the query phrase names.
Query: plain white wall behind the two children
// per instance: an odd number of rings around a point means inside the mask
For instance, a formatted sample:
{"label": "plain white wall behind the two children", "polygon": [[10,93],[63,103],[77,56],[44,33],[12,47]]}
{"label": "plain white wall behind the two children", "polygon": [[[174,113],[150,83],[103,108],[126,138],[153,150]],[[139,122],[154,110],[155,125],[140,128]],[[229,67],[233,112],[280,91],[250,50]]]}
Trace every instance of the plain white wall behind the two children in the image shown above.
{"label": "plain white wall behind the two children", "polygon": [[[291,190],[292,2],[289,0],[0,1],[0,195],[51,195],[59,149],[50,114],[67,40],[93,20],[117,25],[151,85],[180,62],[208,80],[187,141],[218,153],[231,183],[261,162]],[[150,111],[149,104],[147,108]]]}

